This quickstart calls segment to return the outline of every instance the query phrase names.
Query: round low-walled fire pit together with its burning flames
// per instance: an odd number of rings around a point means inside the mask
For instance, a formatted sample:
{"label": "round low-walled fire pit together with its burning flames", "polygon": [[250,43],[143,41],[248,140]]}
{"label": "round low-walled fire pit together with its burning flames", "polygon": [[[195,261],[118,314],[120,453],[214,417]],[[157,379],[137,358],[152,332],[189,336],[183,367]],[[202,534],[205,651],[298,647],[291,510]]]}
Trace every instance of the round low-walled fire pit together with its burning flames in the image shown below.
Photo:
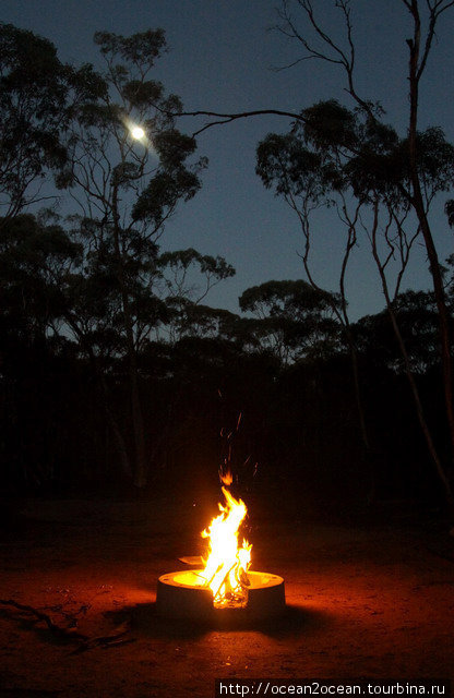
{"label": "round low-walled fire pit together with its burning flames", "polygon": [[206,561],[183,557],[204,568],[175,571],[158,579],[156,607],[159,615],[194,621],[262,621],[285,609],[284,579],[264,571],[251,571],[252,545],[238,543],[240,526],[247,515],[242,500],[228,491],[231,476],[222,476],[225,505],[202,532],[208,539]]}

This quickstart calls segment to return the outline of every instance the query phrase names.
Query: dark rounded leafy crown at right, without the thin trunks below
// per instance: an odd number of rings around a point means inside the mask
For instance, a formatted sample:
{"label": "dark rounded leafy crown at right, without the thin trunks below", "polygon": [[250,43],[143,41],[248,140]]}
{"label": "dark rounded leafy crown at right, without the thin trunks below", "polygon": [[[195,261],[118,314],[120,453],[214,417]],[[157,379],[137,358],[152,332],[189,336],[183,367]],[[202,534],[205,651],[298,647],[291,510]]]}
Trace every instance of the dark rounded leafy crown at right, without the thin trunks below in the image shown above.
{"label": "dark rounded leafy crown at right, without the thin trunks below", "polygon": [[[418,173],[426,206],[449,191],[454,177],[454,146],[439,128],[418,133]],[[301,111],[301,121],[285,135],[270,134],[258,146],[256,172],[284,196],[330,204],[348,192],[360,202],[379,197],[385,205],[408,207],[408,139],[369,113],[336,100]]]}

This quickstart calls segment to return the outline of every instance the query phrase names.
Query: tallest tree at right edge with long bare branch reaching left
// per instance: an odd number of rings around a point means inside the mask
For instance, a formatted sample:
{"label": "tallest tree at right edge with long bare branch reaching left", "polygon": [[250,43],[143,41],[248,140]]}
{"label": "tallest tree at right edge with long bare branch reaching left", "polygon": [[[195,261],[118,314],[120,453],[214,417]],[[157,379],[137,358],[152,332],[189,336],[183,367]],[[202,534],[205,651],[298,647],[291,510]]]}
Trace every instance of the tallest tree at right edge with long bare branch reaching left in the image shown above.
{"label": "tallest tree at right edge with long bare branch reaching left", "polygon": [[[356,82],[357,52],[354,41],[350,1],[336,0],[334,4],[344,22],[344,43],[334,39],[324,29],[323,22],[316,16],[312,0],[294,0],[294,2],[291,0],[283,0],[278,28],[302,49],[302,53],[292,64],[308,59],[321,60],[331,65],[339,67],[344,71],[346,79],[345,89],[353,100],[353,109],[346,109],[342,105],[332,101],[315,105],[312,110],[309,108],[295,113],[276,109],[263,109],[238,113],[195,111],[188,112],[188,115],[206,115],[216,118],[216,120],[199,129],[196,133],[215,124],[228,123],[251,116],[274,113],[287,118],[290,117],[294,121],[294,129],[289,134],[290,141],[291,139],[295,140],[299,132],[300,134],[302,133],[300,146],[303,147],[306,145],[304,139],[308,139],[312,146],[311,152],[304,154],[303,164],[298,164],[297,157],[294,159],[295,166],[302,165],[299,172],[298,169],[288,169],[288,180],[291,185],[295,184],[292,181],[295,172],[297,172],[297,178],[302,178],[304,173],[308,174],[308,172],[304,172],[304,168],[309,164],[309,176],[313,177],[312,183],[314,183],[315,188],[321,186],[324,192],[335,190],[337,194],[340,194],[346,188],[350,186],[361,206],[367,204],[373,208],[375,203],[375,210],[378,210],[378,204],[380,204],[380,206],[384,206],[385,212],[387,209],[387,213],[390,213],[390,205],[392,205],[394,210],[405,213],[406,209],[408,214],[411,213],[416,217],[418,232],[422,237],[432,275],[439,317],[445,414],[451,450],[454,454],[450,322],[441,265],[429,219],[430,205],[434,195],[451,188],[453,180],[453,146],[446,143],[440,129],[427,129],[422,133],[418,131],[420,82],[432,50],[437,25],[443,13],[454,7],[454,2],[452,0],[427,0],[426,3],[422,3],[419,0],[402,0],[402,5],[410,17],[411,29],[411,38],[407,39],[409,48],[408,129],[404,137],[398,136],[395,130],[386,124],[381,105],[372,101],[369,96],[360,94]],[[292,8],[301,13],[301,22],[294,19]],[[331,116],[327,113],[330,110]],[[325,118],[321,123],[313,119],[316,112],[319,112],[319,116],[321,112],[324,113]],[[334,119],[333,116],[335,117]],[[342,156],[340,161],[334,161],[335,171],[332,171],[330,163],[326,163],[326,159],[324,160],[324,147],[326,145],[331,148],[331,160],[333,160],[335,153]],[[330,160],[330,156],[327,159]],[[347,181],[338,179],[339,169]],[[273,174],[271,174],[271,179],[273,179]],[[427,188],[428,185],[429,189]],[[320,191],[316,195],[320,196]],[[450,214],[450,210],[446,213]],[[351,217],[346,217],[348,227],[350,221]],[[361,225],[360,220],[359,224]],[[397,220],[394,220],[394,224],[397,228],[401,225]],[[385,227],[386,222],[384,224]],[[408,241],[408,239],[406,242],[404,241],[403,249],[405,249]],[[378,260],[375,262],[378,262],[383,272],[382,262]],[[390,297],[390,302],[391,300]],[[433,456],[433,449],[431,449],[431,453]],[[453,508],[452,458],[449,465],[442,465],[435,455],[434,462],[443,482],[450,507]]]}

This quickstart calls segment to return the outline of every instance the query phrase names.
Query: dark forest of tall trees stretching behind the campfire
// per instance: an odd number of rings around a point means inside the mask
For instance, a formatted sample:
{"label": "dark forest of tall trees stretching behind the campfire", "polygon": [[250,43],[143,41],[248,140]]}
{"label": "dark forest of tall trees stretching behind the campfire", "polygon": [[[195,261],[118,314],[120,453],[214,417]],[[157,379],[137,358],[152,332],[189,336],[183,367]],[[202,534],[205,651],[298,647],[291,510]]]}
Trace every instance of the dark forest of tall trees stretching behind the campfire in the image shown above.
{"label": "dark forest of tall trees stretching behind the campfire", "polygon": [[[249,496],[295,515],[452,508],[454,257],[437,257],[428,222],[445,193],[446,234],[454,224],[442,130],[414,119],[399,136],[342,53],[354,106],[307,107],[256,148],[258,177],[301,227],[301,279],[247,288],[232,313],[207,304],[235,275],[228,260],[190,233],[166,250],[166,224],[177,208],[183,220],[208,164],[180,130],[179,97],[153,79],[164,31],[95,44],[104,72],[0,26],[3,493],[195,493],[228,465]],[[322,206],[345,237],[338,290],[311,276]],[[351,321],[345,273],[365,231],[383,311]],[[433,290],[405,290],[420,243]]]}

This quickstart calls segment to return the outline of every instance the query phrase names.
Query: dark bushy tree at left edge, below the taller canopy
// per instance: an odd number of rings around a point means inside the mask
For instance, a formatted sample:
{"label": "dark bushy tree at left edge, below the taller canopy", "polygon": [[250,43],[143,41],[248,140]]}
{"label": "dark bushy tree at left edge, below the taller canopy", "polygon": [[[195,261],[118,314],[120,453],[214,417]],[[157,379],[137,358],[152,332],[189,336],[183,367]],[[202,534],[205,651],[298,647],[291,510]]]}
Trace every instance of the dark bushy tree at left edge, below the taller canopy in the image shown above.
{"label": "dark bushy tree at left edge, below the taller canopy", "polygon": [[55,328],[65,312],[60,281],[79,264],[81,249],[44,216],[17,214],[1,222],[0,458],[11,486],[36,486],[58,474],[58,443],[68,430],[58,414],[72,401],[60,386],[65,370],[74,373],[76,352]]}

